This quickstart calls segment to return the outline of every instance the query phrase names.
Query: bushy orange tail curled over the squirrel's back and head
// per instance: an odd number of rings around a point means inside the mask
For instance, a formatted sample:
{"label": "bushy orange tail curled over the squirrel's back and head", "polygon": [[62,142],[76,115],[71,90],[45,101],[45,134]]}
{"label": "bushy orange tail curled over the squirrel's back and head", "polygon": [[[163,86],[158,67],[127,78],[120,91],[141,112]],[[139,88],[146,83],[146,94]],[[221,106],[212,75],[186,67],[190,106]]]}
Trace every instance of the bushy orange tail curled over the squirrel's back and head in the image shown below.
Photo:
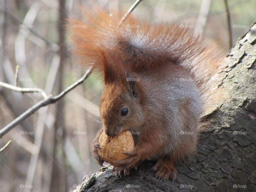
{"label": "bushy orange tail curled over the squirrel's back and head", "polygon": [[102,51],[137,73],[175,63],[189,71],[206,97],[207,82],[220,61],[214,46],[205,45],[198,34],[177,23],[150,24],[134,15],[121,22],[125,13],[118,11],[83,12],[85,18],[69,21],[73,53],[80,63],[101,71]]}

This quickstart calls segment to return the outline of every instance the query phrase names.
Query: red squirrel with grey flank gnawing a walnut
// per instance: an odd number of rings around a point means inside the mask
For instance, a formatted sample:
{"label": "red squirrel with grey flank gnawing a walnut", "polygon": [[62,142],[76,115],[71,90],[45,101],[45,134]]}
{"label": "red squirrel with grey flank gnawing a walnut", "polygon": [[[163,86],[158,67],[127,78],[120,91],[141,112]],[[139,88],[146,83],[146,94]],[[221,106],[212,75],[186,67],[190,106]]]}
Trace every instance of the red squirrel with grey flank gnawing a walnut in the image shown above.
{"label": "red squirrel with grey flank gnawing a walnut", "polygon": [[[147,23],[130,14],[83,10],[84,19],[70,19],[73,55],[104,79],[100,101],[102,128],[93,155],[108,136],[136,131],[135,147],[113,173],[128,175],[146,159],[161,179],[176,178],[175,162],[196,153],[202,111],[211,96],[209,80],[220,65],[219,53],[177,22]],[[110,14],[111,13],[111,14]]]}

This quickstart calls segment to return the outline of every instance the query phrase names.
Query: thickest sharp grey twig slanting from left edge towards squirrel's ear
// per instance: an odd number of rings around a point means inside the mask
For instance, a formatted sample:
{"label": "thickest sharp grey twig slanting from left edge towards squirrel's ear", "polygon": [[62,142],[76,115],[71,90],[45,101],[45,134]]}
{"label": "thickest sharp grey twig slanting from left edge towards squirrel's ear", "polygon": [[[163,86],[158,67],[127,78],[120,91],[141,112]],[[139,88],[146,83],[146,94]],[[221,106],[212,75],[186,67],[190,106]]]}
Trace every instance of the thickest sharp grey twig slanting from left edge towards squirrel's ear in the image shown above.
{"label": "thickest sharp grey twig slanting from left edge towards squirrel's ear", "polygon": [[16,125],[18,125],[19,123],[21,123],[24,119],[26,119],[27,117],[29,117],[31,114],[33,114],[35,111],[37,111],[38,109],[40,109],[41,107],[44,107],[46,105],[49,105],[51,103],[55,103],[57,101],[59,101],[62,97],[64,97],[69,91],[71,91],[72,89],[74,89],[76,86],[80,85],[81,83],[83,83],[85,81],[85,79],[91,74],[92,72],[92,67],[90,67],[86,73],[83,75],[83,77],[81,79],[79,79],[79,81],[73,83],[72,85],[70,85],[69,87],[67,87],[65,90],[63,90],[60,94],[56,95],[56,96],[52,96],[49,95],[46,99],[36,103],[34,106],[30,107],[28,110],[26,110],[24,113],[22,113],[19,117],[17,117],[16,119],[14,119],[12,122],[10,122],[8,125],[6,125],[3,129],[0,130],[0,138],[3,137],[3,135],[5,135],[8,131],[10,131],[11,129],[13,129]]}

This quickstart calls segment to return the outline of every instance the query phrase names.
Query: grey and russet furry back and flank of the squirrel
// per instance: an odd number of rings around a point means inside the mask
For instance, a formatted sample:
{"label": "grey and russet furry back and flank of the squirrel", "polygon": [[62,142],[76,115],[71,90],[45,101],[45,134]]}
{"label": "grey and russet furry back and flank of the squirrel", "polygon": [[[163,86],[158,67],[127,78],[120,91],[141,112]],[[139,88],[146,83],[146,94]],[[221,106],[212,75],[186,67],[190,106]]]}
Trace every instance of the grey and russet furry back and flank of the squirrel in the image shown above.
{"label": "grey and russet furry back and flank of the squirrel", "polygon": [[[171,154],[176,161],[194,154],[202,102],[191,75],[182,66],[169,65],[156,69],[151,75],[142,73],[137,78],[145,90],[146,121],[134,131],[143,131],[142,137],[150,133],[157,134],[155,138],[160,135],[165,139],[162,142],[166,146],[159,149],[158,157]],[[157,132],[152,131],[152,126]]]}

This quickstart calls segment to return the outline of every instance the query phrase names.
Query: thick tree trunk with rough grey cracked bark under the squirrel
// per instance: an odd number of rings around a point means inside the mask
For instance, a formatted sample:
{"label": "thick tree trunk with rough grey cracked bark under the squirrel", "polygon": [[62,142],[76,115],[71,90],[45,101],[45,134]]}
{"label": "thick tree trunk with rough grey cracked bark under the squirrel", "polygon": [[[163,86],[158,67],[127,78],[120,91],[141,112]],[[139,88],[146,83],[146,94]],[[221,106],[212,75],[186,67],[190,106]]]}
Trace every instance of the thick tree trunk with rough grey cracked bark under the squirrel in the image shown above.
{"label": "thick tree trunk with rough grey cracked bark under the squirrel", "polygon": [[74,192],[256,191],[255,44],[256,22],[227,55],[218,88],[225,93],[221,105],[207,116],[197,156],[176,164],[174,182],[156,179],[150,171],[155,162],[146,161],[119,179],[111,166],[102,168],[85,177]]}

